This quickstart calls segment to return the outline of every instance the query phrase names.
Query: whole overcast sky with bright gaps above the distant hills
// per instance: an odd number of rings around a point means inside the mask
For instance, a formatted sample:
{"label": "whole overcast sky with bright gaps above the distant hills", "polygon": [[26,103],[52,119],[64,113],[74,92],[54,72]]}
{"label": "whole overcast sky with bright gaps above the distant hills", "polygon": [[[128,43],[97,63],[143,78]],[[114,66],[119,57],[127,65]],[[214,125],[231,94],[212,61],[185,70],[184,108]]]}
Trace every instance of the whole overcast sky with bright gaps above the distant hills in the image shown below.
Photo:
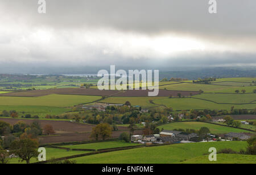
{"label": "whole overcast sky with bright gaps above the distant hills", "polygon": [[255,66],[256,1],[0,0],[0,69]]}

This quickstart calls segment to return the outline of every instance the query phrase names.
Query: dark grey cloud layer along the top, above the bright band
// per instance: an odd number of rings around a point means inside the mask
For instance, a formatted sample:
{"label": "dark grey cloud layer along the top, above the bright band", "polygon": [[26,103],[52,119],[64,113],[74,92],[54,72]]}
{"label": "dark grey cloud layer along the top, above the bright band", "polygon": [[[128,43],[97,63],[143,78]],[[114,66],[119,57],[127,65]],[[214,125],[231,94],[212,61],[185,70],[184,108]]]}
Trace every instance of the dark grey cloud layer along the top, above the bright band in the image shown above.
{"label": "dark grey cloud layer along the top, above the bright band", "polygon": [[209,14],[208,0],[51,0],[47,14],[37,12],[37,0],[1,1],[5,14],[32,25],[110,27],[136,32],[184,32],[188,35],[256,35],[256,1],[217,1]]}

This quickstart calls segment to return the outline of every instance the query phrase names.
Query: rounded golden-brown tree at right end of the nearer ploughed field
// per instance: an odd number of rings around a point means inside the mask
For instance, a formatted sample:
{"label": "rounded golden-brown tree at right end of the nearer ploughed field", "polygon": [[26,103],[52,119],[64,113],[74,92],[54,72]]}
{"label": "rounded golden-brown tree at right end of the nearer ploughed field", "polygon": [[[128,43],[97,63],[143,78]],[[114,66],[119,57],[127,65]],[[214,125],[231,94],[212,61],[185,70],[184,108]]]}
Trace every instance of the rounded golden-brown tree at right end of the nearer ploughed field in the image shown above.
{"label": "rounded golden-brown tree at right end of the nearer ploughed field", "polygon": [[95,140],[102,138],[102,140],[105,140],[106,138],[111,138],[111,135],[112,127],[110,126],[110,124],[100,123],[92,129],[92,134],[90,135],[90,138],[93,138]]}

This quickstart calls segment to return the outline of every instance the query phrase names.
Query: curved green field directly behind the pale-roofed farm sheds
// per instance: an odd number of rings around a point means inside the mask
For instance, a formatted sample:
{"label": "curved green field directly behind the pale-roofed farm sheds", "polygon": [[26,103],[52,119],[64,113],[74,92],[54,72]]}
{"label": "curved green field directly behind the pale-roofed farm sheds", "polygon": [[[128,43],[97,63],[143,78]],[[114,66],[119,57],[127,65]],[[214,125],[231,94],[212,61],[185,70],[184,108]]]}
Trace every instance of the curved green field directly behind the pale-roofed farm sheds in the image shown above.
{"label": "curved green field directly behind the pale-roofed farm sheds", "polygon": [[226,127],[226,126],[218,126],[216,124],[210,123],[202,123],[202,122],[176,122],[176,123],[168,123],[158,128],[161,130],[175,130],[175,129],[193,129],[193,130],[200,130],[201,127],[208,127],[211,134],[225,134],[228,132],[248,132],[245,130],[241,130],[238,128]]}

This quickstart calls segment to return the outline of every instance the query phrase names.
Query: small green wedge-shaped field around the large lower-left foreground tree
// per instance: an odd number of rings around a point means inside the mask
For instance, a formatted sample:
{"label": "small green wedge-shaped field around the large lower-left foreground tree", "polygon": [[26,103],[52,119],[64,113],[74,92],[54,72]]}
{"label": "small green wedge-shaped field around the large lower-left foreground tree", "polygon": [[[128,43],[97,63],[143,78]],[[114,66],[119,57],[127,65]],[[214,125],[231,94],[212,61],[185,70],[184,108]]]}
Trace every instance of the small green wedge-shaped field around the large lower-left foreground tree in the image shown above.
{"label": "small green wedge-shaped field around the large lower-left foreground tree", "polygon": [[[55,148],[46,148],[46,160],[50,160],[52,158],[60,158],[67,157],[73,155],[81,155],[83,153],[88,153],[89,151],[67,151],[65,149],[55,149]],[[35,163],[36,159],[31,159],[30,163]],[[10,159],[10,164],[19,164],[18,158]],[[26,162],[23,162],[25,164]]]}

